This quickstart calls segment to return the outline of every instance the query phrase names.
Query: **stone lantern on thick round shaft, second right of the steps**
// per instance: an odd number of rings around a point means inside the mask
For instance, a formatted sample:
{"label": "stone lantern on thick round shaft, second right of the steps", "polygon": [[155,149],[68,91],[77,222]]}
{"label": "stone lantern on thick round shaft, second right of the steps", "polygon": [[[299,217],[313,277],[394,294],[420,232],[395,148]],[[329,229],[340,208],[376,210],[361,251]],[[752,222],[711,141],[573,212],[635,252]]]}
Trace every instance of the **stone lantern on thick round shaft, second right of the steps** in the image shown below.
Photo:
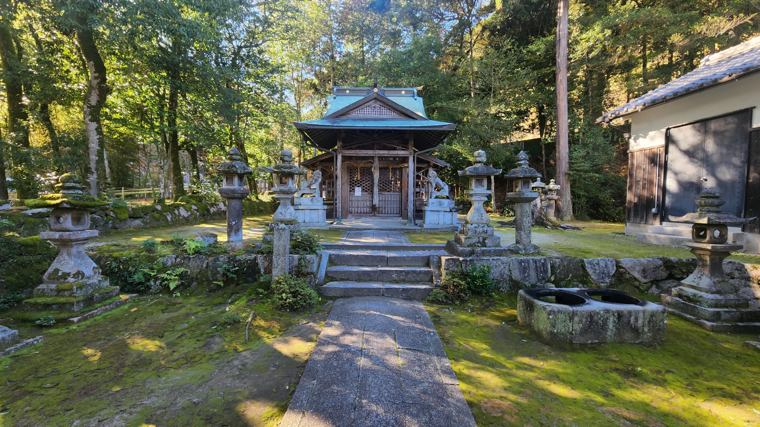
{"label": "stone lantern on thick round shaft, second right of the steps", "polygon": [[539,193],[533,191],[533,180],[541,174],[527,165],[527,154],[524,151],[518,154],[517,165],[517,168],[504,175],[514,182],[515,189],[514,192],[507,193],[507,199],[515,203],[515,244],[507,246],[507,249],[511,253],[530,255],[539,251],[538,246],[530,243],[530,227],[533,224],[530,203],[539,196]]}

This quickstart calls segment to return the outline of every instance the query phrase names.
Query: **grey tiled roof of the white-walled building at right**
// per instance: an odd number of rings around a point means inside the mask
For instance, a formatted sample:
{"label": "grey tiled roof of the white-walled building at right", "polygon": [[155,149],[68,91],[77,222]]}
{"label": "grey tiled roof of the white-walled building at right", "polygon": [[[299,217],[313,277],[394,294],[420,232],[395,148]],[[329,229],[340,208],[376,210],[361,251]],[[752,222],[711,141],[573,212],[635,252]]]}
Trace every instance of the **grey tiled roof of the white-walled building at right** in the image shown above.
{"label": "grey tiled roof of the white-walled building at right", "polygon": [[715,83],[731,81],[731,77],[758,70],[760,70],[760,37],[755,37],[732,48],[705,56],[694,71],[606,113],[597,118],[597,123],[641,111],[675,96],[683,96]]}

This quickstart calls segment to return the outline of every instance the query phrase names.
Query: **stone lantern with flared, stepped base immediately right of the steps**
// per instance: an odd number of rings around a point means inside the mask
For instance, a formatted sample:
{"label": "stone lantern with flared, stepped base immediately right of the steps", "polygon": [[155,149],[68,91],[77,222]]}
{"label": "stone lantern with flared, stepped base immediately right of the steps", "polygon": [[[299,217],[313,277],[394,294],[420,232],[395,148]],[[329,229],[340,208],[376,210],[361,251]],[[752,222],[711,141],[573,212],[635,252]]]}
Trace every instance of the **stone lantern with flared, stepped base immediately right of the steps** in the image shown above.
{"label": "stone lantern with flared, stepped base immediately right of the steps", "polygon": [[454,241],[467,247],[501,247],[501,238],[493,235],[491,218],[483,209],[483,203],[492,194],[492,190],[488,189],[489,177],[501,174],[502,170],[485,165],[486,152],[483,150],[473,153],[473,163],[475,165],[458,171],[460,176],[470,178],[470,190],[464,193],[472,206],[464,218],[462,231],[454,235]]}

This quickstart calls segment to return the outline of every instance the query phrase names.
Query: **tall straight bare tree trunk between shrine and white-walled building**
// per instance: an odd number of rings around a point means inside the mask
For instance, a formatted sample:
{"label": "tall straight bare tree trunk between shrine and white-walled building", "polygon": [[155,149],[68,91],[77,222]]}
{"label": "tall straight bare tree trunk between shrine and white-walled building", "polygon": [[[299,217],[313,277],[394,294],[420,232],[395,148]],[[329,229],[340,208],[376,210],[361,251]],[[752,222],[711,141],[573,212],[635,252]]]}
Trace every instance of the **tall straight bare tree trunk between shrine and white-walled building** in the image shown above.
{"label": "tall straight bare tree trunk between shrine and white-walled building", "polygon": [[557,5],[557,208],[562,221],[572,219],[572,199],[570,197],[570,157],[568,148],[568,0],[559,0]]}

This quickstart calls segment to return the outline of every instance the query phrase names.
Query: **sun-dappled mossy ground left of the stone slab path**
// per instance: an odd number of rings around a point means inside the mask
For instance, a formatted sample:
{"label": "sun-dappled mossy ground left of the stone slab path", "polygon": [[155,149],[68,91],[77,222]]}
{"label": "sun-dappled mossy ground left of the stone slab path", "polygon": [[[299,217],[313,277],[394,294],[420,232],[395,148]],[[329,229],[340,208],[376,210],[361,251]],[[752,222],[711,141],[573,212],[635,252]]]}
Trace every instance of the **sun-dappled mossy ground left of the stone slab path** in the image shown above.
{"label": "sun-dappled mossy ground left of the stone slab path", "polygon": [[[77,325],[8,325],[45,340],[0,358],[0,425],[277,425],[330,306],[278,312],[255,287],[230,287],[139,297]],[[254,312],[249,343],[245,321],[222,322],[227,308]]]}

